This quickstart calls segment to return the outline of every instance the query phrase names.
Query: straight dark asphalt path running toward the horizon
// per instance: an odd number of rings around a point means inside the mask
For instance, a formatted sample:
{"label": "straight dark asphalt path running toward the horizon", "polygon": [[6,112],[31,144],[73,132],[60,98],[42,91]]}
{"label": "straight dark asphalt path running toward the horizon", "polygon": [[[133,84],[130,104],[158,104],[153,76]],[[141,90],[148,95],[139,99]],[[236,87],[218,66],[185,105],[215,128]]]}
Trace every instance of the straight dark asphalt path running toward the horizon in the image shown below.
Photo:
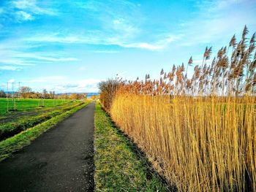
{"label": "straight dark asphalt path running toward the horizon", "polygon": [[91,103],[0,163],[0,191],[94,191]]}

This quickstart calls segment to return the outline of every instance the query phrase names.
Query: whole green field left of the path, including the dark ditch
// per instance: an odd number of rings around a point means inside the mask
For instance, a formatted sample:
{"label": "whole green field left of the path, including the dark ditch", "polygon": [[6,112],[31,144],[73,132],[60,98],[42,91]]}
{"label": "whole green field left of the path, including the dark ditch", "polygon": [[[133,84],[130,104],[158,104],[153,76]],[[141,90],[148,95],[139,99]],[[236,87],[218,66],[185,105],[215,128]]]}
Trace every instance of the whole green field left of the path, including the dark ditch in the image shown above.
{"label": "whole green field left of the path, including the dark ditch", "polygon": [[[39,103],[39,99],[17,99],[17,110],[7,112],[7,99],[0,99],[0,142],[83,105],[80,101],[64,99],[45,99],[43,102]],[[39,107],[39,104],[44,107]]]}

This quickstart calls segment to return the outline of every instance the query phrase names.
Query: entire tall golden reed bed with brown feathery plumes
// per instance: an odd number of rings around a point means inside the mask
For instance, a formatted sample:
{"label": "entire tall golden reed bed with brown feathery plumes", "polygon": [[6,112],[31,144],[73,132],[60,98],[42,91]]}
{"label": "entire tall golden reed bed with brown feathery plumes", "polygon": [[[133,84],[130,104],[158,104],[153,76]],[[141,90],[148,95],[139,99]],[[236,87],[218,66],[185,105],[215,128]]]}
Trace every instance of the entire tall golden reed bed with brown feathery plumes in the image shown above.
{"label": "entire tall golden reed bed with brown feathery plumes", "polygon": [[201,65],[190,58],[159,80],[116,80],[106,110],[180,191],[256,191],[255,34],[247,34],[245,26],[210,64],[206,47]]}

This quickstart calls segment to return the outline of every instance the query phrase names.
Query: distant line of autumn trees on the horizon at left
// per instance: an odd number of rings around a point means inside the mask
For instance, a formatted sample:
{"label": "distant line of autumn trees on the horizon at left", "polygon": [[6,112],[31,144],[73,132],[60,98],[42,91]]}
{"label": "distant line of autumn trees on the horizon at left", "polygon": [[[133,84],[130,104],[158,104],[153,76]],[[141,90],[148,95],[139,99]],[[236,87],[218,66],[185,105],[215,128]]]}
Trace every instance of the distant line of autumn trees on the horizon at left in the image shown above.
{"label": "distant line of autumn trees on the horizon at left", "polygon": [[[5,93],[4,91],[0,91],[0,98],[12,97],[12,93]],[[86,93],[72,93],[68,95],[64,94],[56,94],[55,91],[47,91],[44,89],[42,93],[32,91],[31,88],[27,86],[22,86],[20,89],[14,93],[15,98],[23,98],[23,99],[86,99]]]}

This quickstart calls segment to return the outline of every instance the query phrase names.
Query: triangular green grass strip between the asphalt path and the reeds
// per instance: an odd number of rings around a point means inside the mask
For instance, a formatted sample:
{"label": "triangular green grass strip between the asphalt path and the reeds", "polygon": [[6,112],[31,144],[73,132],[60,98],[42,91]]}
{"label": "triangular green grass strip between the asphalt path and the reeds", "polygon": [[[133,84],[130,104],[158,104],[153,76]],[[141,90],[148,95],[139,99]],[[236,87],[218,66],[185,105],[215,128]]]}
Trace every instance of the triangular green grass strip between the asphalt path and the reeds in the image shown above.
{"label": "triangular green grass strip between the asphalt path and the reeds", "polygon": [[96,105],[94,126],[96,191],[170,191],[100,104]]}

